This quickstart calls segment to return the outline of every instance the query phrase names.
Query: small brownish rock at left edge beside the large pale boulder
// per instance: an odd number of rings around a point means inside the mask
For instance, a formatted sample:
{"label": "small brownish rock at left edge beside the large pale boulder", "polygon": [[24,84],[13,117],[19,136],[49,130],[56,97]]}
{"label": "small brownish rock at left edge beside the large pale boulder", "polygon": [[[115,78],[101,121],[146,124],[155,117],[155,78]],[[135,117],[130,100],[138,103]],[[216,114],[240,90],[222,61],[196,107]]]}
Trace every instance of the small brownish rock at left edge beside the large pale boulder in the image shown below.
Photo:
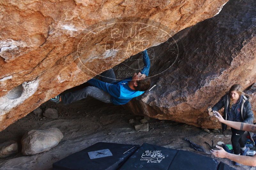
{"label": "small brownish rock at left edge beside the large pale boulder", "polygon": [[0,158],[5,158],[18,152],[18,143],[11,140],[0,144]]}

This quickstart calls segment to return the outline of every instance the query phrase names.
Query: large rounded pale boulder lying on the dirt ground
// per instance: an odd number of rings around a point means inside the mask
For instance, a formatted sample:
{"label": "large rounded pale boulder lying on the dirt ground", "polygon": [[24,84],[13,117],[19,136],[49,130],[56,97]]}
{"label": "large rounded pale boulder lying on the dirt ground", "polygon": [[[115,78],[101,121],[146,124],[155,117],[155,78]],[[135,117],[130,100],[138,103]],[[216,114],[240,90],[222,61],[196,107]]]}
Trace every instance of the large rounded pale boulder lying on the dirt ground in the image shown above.
{"label": "large rounded pale boulder lying on the dirt ground", "polygon": [[49,151],[58,145],[62,138],[63,134],[58,128],[28,131],[21,139],[22,153],[24,155],[34,155]]}

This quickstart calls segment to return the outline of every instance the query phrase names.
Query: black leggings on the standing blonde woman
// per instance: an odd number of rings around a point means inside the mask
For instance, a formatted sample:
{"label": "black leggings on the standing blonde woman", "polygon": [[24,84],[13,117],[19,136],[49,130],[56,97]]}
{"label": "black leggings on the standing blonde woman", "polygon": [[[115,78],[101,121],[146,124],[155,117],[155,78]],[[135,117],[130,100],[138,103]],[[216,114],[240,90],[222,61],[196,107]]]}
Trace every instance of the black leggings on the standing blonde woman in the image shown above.
{"label": "black leggings on the standing blonde woman", "polygon": [[242,140],[242,136],[244,134],[244,131],[239,131],[236,129],[231,128],[232,136],[231,136],[231,142],[233,145],[233,150],[236,155],[240,154],[240,148],[244,147],[244,142]]}

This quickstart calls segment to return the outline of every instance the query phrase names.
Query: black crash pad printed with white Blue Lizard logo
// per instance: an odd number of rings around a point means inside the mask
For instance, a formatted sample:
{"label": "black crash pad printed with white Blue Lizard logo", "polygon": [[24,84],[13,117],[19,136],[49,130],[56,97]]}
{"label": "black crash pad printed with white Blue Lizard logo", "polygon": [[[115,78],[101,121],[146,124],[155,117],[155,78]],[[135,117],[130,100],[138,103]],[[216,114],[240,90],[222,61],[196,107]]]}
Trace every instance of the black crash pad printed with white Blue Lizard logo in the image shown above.
{"label": "black crash pad printed with white Blue Lizard logo", "polygon": [[144,143],[120,170],[216,170],[217,166],[218,162],[210,157]]}

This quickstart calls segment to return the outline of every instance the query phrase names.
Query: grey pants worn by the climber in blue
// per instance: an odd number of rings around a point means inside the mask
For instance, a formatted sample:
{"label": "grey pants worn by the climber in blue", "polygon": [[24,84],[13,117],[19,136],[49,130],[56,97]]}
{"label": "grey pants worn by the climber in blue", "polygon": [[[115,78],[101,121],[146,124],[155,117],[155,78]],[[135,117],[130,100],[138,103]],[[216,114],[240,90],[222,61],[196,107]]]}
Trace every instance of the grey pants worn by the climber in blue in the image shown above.
{"label": "grey pants worn by the climber in blue", "polygon": [[[100,77],[101,77],[101,81],[104,81],[107,83],[112,83],[116,81],[116,76],[112,68],[101,73]],[[63,94],[61,95],[61,100],[64,104],[69,104],[69,103],[84,99],[87,96],[91,96],[104,103],[112,103],[110,100],[111,96],[109,93],[94,86],[88,86],[81,90]]]}

